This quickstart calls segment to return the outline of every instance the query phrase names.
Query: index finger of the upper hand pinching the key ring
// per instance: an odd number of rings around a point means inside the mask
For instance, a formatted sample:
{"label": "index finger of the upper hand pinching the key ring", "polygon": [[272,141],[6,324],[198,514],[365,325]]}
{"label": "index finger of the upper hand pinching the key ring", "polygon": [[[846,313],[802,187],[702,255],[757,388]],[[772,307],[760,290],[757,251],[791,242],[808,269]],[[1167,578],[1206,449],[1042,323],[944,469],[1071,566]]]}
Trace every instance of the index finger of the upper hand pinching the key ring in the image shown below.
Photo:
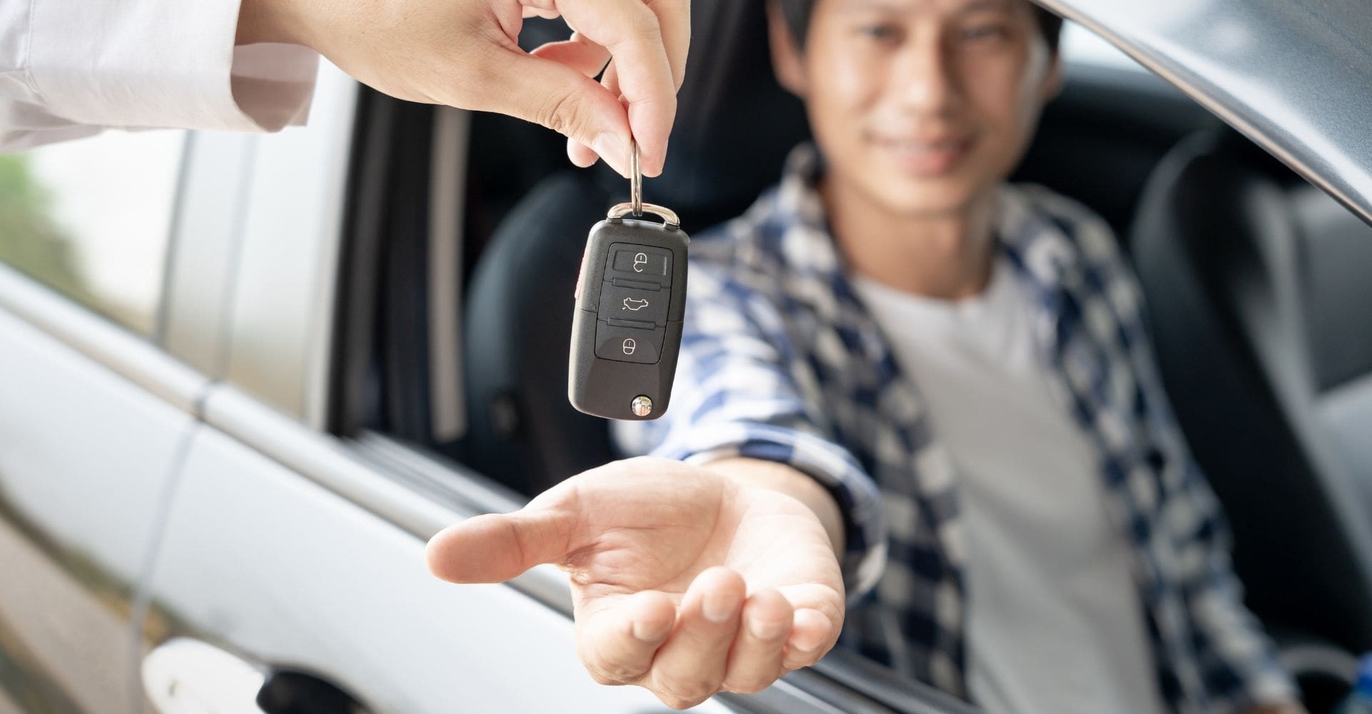
{"label": "index finger of the upper hand pinching the key ring", "polygon": [[[690,5],[685,0],[652,3],[650,8],[645,0],[560,0],[557,7],[568,25],[613,58],[619,89],[628,103],[628,123],[642,151],[643,173],[656,175],[661,173],[667,136],[676,118],[675,67],[685,71]],[[676,64],[672,55],[679,58]],[[627,163],[619,156],[611,160]]]}

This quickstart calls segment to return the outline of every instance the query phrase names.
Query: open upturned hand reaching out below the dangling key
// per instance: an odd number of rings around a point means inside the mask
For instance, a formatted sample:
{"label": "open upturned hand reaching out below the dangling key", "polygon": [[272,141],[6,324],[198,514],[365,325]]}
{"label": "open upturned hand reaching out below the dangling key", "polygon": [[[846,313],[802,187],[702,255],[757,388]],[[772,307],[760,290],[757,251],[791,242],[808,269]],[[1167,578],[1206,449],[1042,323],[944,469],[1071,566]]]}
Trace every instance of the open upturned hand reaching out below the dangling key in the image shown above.
{"label": "open upturned hand reaching out below the dangling key", "polygon": [[[723,467],[615,462],[520,511],[443,530],[428,563],[453,582],[565,569],[578,651],[602,684],[637,684],[676,709],[719,691],[756,692],[816,662],[842,626],[831,524],[801,500],[818,487],[794,477],[797,496]],[[822,507],[838,518],[831,502]]]}

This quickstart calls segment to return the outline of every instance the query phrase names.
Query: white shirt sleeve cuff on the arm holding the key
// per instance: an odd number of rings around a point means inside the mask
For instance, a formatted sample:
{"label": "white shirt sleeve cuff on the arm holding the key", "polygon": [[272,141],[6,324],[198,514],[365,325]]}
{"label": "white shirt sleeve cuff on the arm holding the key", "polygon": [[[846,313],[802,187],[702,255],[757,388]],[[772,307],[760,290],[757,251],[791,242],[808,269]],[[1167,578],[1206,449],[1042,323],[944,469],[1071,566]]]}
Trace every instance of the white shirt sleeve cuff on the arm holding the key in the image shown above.
{"label": "white shirt sleeve cuff on the arm holding the key", "polygon": [[235,47],[239,0],[0,3],[0,151],[99,127],[305,123],[318,55]]}

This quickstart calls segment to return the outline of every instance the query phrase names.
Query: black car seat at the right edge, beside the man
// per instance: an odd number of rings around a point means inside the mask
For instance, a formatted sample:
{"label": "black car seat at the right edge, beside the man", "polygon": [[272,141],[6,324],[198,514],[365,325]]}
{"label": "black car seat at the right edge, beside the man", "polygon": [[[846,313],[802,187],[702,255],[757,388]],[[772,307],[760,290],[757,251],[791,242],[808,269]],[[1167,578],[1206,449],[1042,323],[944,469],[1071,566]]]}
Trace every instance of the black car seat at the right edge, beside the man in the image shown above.
{"label": "black car seat at the right edge, beside the man", "polygon": [[1159,163],[1131,243],[1250,607],[1372,650],[1372,229],[1225,129]]}

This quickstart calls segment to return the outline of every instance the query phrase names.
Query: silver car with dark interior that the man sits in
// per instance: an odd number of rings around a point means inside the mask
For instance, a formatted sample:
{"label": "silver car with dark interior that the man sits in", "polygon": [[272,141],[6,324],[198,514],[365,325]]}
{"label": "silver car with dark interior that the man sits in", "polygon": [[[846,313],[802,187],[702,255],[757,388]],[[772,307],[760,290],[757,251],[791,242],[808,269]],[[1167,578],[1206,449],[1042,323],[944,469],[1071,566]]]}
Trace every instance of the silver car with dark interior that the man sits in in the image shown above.
{"label": "silver car with dark interior that the man sits in", "polygon": [[[1067,84],[1017,178],[1125,241],[1247,603],[1327,711],[1372,650],[1372,5],[1043,3]],[[805,134],[760,3],[694,5],[648,185],[691,232]],[[663,710],[583,672],[561,571],[424,567],[615,458],[565,360],[626,186],[560,145],[327,66],[309,129],[0,156],[0,714]],[[844,651],[700,710],[974,711]]]}

